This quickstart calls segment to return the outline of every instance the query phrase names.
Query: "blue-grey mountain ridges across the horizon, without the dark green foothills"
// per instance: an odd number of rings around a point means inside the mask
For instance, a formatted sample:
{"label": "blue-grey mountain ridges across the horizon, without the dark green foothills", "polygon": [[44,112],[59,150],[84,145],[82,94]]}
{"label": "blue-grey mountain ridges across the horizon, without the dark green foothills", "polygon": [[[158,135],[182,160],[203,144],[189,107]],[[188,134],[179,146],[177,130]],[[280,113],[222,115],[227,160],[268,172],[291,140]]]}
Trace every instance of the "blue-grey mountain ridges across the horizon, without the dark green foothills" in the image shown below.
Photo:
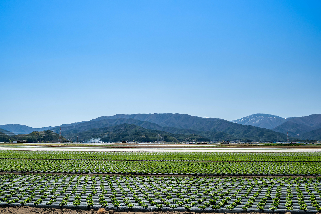
{"label": "blue-grey mountain ridges across the horizon, without the dark green foothills", "polygon": [[[143,129],[157,130],[174,135],[200,135],[204,138],[215,141],[239,139],[256,141],[286,141],[287,132],[289,132],[290,136],[295,137],[290,137],[290,140],[298,138],[303,139],[301,138],[301,134],[321,128],[320,119],[321,115],[282,118],[268,114],[254,114],[241,118],[240,120],[229,122],[220,118],[203,118],[187,114],[117,114],[114,116],[101,116],[90,121],[63,124],[55,127],[49,126],[43,128],[32,128],[19,124],[7,124],[0,125],[0,128],[7,133],[10,131],[13,133],[16,132],[17,134],[27,134],[27,132],[30,131],[35,132],[47,129],[55,131],[59,130],[59,127],[61,127],[62,135],[69,139],[77,133],[84,132],[86,132],[85,134],[88,134],[87,137],[89,137],[89,134],[93,133],[90,131],[92,129],[101,130],[102,128],[113,127],[120,124],[130,124],[139,126]],[[262,126],[270,127],[270,129]],[[284,131],[285,129],[287,130],[286,132]],[[148,133],[152,132],[148,131]],[[316,134],[316,137],[318,136],[317,133],[311,132],[308,135],[309,138],[313,138],[313,134]],[[172,135],[172,137],[174,135]]]}

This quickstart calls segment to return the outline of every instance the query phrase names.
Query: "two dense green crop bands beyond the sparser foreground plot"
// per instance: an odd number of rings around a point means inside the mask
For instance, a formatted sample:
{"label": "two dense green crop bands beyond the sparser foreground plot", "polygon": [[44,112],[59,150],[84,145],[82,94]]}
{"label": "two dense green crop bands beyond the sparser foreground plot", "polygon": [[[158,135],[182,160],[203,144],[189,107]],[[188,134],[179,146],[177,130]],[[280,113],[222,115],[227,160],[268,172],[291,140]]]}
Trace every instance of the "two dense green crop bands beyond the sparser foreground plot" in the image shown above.
{"label": "two dense green crop bands beyond the sparser foreground plot", "polygon": [[320,152],[202,153],[2,150],[0,158],[2,158],[0,159],[0,171],[19,173],[314,176],[321,174]]}

